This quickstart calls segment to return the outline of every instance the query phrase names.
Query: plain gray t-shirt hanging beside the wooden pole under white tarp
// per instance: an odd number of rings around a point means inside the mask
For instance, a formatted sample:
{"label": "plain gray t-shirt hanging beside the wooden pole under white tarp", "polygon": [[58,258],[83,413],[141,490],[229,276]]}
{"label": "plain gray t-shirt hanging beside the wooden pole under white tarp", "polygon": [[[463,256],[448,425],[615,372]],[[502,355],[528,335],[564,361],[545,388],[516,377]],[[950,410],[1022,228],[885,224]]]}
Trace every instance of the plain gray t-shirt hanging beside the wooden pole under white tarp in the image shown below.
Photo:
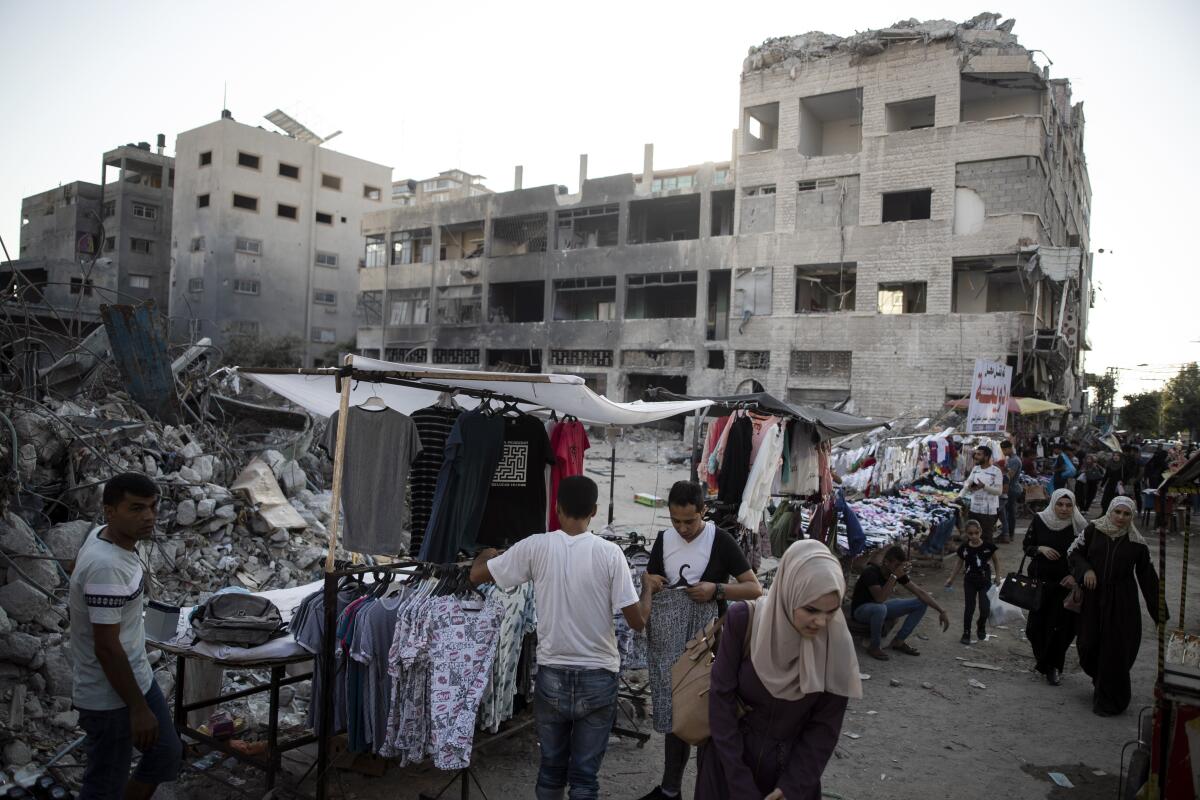
{"label": "plain gray t-shirt hanging beside the wooden pole under white tarp", "polygon": [[[337,444],[337,413],[329,417],[325,449]],[[341,545],[353,553],[408,553],[412,515],[407,503],[408,471],[421,452],[416,423],[392,409],[352,408],[346,420],[342,462],[342,511],[346,535]]]}

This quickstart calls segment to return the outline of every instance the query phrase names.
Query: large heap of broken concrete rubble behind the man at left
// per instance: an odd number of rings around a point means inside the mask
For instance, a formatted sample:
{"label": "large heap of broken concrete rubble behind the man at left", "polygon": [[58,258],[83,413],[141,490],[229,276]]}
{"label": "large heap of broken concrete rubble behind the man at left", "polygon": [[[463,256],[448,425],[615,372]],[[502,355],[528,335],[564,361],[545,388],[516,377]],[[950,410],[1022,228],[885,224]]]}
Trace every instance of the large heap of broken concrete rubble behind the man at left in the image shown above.
{"label": "large heap of broken concrete rubble behind the man at left", "polygon": [[[0,426],[0,762],[13,774],[80,735],[67,582],[80,543],[102,523],[107,477],[131,470],[157,482],[158,529],[142,551],[152,576],[146,595],[194,606],[224,587],[264,591],[319,577],[330,467],[311,450],[306,417],[302,432],[256,439],[203,411],[192,425],[161,423],[120,390],[5,399],[14,402],[4,410],[12,426]],[[264,446],[271,441],[280,449]],[[150,656],[170,696],[173,660]]]}

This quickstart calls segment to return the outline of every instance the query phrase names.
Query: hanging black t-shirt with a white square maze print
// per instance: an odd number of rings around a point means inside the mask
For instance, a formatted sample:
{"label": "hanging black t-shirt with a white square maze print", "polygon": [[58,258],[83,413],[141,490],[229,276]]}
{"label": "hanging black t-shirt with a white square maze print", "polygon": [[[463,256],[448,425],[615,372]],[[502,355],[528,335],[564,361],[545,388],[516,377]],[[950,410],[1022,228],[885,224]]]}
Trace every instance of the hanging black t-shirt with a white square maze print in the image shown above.
{"label": "hanging black t-shirt with a white square maze print", "polygon": [[540,420],[527,415],[503,419],[504,447],[475,539],[490,547],[546,533],[546,467],[554,463]]}

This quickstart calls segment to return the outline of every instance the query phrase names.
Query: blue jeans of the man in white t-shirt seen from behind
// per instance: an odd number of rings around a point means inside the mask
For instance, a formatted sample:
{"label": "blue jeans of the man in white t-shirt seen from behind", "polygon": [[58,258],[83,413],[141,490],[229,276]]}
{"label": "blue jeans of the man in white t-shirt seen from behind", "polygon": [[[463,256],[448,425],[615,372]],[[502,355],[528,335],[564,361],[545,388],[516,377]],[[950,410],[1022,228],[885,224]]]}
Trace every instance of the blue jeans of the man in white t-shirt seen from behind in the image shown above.
{"label": "blue jeans of the man in white t-shirt seen from behind", "polygon": [[534,723],[541,747],[538,800],[600,796],[600,763],[617,718],[617,673],[607,669],[538,667]]}

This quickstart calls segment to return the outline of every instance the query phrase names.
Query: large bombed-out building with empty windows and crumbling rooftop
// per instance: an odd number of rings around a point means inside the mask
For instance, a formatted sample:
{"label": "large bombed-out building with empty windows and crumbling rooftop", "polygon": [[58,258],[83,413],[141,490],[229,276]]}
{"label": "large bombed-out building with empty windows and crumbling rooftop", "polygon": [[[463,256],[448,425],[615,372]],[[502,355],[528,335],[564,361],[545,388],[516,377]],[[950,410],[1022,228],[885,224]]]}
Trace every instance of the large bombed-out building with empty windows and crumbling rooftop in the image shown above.
{"label": "large bombed-out building with empty windows and crumbling rooftop", "polygon": [[1080,396],[1091,299],[1084,113],[1013,22],[770,40],[728,162],[397,207],[364,222],[358,348],[895,415]]}

